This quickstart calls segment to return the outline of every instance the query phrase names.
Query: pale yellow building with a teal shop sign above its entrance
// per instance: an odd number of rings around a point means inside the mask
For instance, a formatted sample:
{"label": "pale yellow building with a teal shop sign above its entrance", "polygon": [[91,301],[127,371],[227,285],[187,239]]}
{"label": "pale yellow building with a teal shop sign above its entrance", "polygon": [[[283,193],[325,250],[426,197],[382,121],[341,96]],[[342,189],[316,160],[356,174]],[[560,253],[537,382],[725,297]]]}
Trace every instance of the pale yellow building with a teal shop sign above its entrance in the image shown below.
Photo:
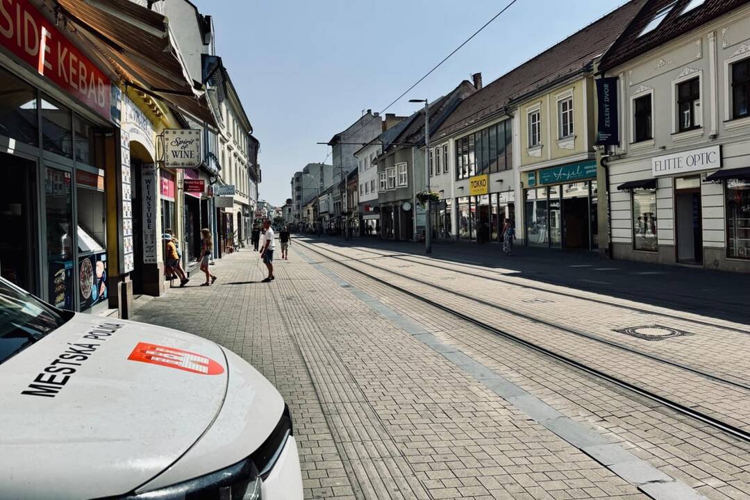
{"label": "pale yellow building with a teal shop sign above its entrance", "polygon": [[526,244],[598,247],[601,167],[593,147],[595,104],[592,70],[526,96],[517,104],[518,185]]}

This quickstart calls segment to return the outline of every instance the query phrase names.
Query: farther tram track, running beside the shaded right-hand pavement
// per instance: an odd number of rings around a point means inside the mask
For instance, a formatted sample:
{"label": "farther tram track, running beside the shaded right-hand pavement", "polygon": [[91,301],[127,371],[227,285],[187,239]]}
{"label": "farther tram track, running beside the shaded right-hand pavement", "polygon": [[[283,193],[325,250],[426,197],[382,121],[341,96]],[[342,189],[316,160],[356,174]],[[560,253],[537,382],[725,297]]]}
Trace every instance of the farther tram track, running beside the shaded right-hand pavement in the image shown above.
{"label": "farther tram track, running beside the shaded right-hand pavement", "polygon": [[[461,272],[461,271],[458,271],[455,268],[446,267],[446,265],[436,264],[434,262],[434,259],[430,259],[430,258],[424,257],[424,256],[417,256],[417,255],[404,254],[404,253],[395,253],[395,254],[392,254],[392,253],[380,253],[380,252],[378,252],[376,250],[365,249],[365,248],[362,248],[362,247],[354,247],[352,245],[344,245],[344,246],[347,247],[347,248],[351,248],[353,250],[357,250],[359,252],[372,253],[373,255],[376,255],[376,256],[381,256],[381,257],[387,257],[387,258],[390,258],[390,259],[401,260],[402,262],[412,262],[414,264],[425,265],[425,266],[428,266],[428,267],[431,267],[431,268],[442,269],[443,271],[452,271],[452,272],[455,272],[455,273],[460,273]],[[387,252],[387,250],[383,250],[383,251]],[[413,259],[419,259],[419,260],[413,260]],[[482,267],[479,267],[478,265],[477,266],[467,265],[467,264],[463,264],[461,262],[451,262],[451,263],[448,264],[448,266],[456,266],[456,267],[459,267],[459,268],[470,269],[472,271],[477,271],[478,269],[481,269],[482,271],[487,271],[487,272],[490,272],[492,274],[502,274],[499,271],[495,271],[493,269],[482,268]],[[542,286],[534,286],[534,285],[529,285],[529,284],[524,284],[524,283],[517,283],[515,281],[504,280],[504,279],[502,279],[500,277],[496,277],[496,276],[487,276],[487,275],[484,275],[484,274],[475,274],[474,276],[480,278],[481,280],[489,280],[489,281],[494,281],[496,283],[504,283],[504,284],[509,285],[509,286],[516,286],[516,287],[522,288],[522,289],[534,290],[535,292],[544,292],[544,293],[549,293],[549,294],[552,294],[552,295],[558,295],[560,297],[574,298],[574,299],[577,299],[577,300],[580,300],[580,301],[590,302],[592,304],[603,304],[603,305],[607,305],[607,306],[610,306],[610,307],[617,307],[619,309],[630,310],[630,311],[633,311],[635,313],[648,314],[650,316],[659,316],[659,317],[662,317],[662,318],[676,319],[678,321],[692,323],[694,325],[708,326],[708,327],[711,327],[711,328],[721,328],[723,330],[734,331],[734,332],[739,333],[739,334],[750,335],[750,329],[737,328],[737,327],[733,327],[733,326],[729,326],[729,325],[717,325],[716,323],[702,321],[700,319],[687,319],[687,318],[683,318],[682,316],[677,316],[675,314],[663,313],[663,312],[659,312],[659,311],[643,309],[642,307],[628,306],[627,304],[618,304],[616,302],[607,302],[607,301],[604,301],[604,300],[601,300],[601,299],[598,299],[598,298],[583,297],[581,295],[575,295],[574,293],[566,293],[566,292],[561,292],[559,290],[547,289],[547,288],[544,288]],[[558,285],[558,284],[554,284],[554,283],[553,283],[553,285],[554,286],[562,286],[562,285]],[[626,299],[626,300],[635,300],[635,298]]]}

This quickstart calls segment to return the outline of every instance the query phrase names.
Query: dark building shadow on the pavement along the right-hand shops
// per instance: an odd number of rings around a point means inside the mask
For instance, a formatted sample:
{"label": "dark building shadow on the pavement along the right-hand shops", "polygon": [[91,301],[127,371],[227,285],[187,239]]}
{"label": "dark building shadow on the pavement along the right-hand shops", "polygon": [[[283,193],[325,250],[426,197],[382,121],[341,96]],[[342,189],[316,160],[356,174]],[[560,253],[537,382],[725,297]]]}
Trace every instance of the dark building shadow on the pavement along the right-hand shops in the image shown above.
{"label": "dark building shadow on the pavement along the right-hand shops", "polygon": [[[750,276],[741,273],[709,271],[679,265],[599,259],[595,253],[580,250],[555,250],[520,247],[512,256],[502,254],[499,244],[475,244],[463,241],[436,241],[433,252],[425,256],[424,244],[354,238],[308,237],[311,242],[340,247],[388,250],[399,255],[445,260],[466,265],[466,274],[499,277],[493,271],[512,274],[526,280],[566,286],[615,298],[640,302],[686,313],[750,324]],[[438,264],[438,262],[436,262]],[[512,300],[512,298],[509,298]]]}

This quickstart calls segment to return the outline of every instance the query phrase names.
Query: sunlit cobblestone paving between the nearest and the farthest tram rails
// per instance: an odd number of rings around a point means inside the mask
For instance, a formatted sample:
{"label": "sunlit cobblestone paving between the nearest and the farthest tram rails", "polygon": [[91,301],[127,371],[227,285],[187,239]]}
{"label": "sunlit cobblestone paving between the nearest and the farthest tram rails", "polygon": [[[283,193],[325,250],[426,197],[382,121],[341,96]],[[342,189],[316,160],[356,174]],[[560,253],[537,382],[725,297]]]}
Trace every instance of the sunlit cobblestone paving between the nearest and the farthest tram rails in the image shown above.
{"label": "sunlit cobblestone paving between the nearest and the farthest tram rails", "polygon": [[[348,264],[362,271],[399,286],[406,286],[407,289],[433,298],[441,304],[450,304],[451,307],[475,315],[505,331],[583,361],[586,366],[595,367],[669,397],[727,424],[750,430],[750,385],[747,375],[750,373],[750,333],[709,326],[708,323],[712,320],[707,318],[702,319],[703,324],[697,325],[691,320],[661,317],[658,319],[659,324],[686,330],[691,334],[651,342],[616,330],[653,324],[654,318],[658,316],[622,309],[616,305],[553,295],[538,289],[528,290],[507,283],[482,280],[469,274],[427,267],[415,262],[389,258],[375,260],[373,253],[356,247],[342,249],[329,244],[318,244],[318,248],[338,252],[338,255],[331,255],[338,259],[346,256],[350,259]],[[383,271],[384,269],[387,271]],[[441,286],[443,290],[405,279],[410,277]],[[468,297],[460,297],[453,291],[462,292]],[[481,304],[475,299],[483,299],[504,310]],[[508,311],[518,312],[523,316],[509,315]],[[722,323],[733,328],[748,328],[746,325]],[[592,334],[641,352],[672,359],[719,378],[734,380],[746,387],[728,385],[679,367],[618,351],[596,340],[563,331],[559,327]]]}

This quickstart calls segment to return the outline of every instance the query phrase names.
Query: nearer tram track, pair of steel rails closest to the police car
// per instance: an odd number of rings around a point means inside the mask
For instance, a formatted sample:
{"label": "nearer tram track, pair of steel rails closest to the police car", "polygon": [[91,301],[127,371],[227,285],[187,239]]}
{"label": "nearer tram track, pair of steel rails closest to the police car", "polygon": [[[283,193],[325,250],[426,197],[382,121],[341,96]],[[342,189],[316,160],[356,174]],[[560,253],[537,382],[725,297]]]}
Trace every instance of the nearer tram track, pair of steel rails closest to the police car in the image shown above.
{"label": "nearer tram track, pair of steel rails closest to the police car", "polygon": [[[727,422],[721,421],[718,418],[712,417],[711,415],[707,415],[704,412],[700,412],[699,410],[693,409],[690,406],[687,406],[685,404],[676,402],[674,400],[670,400],[669,397],[661,396],[660,394],[656,394],[654,391],[650,391],[647,388],[643,388],[643,387],[640,387],[638,385],[635,385],[635,384],[633,384],[631,382],[628,382],[628,381],[626,381],[624,379],[621,379],[621,378],[619,378],[617,376],[613,376],[610,373],[605,373],[602,370],[598,370],[595,367],[591,367],[591,366],[589,366],[589,365],[587,365],[587,364],[585,364],[585,363],[583,363],[581,361],[577,361],[574,358],[569,357],[568,355],[564,355],[562,353],[555,352],[553,349],[547,348],[545,346],[541,346],[539,343],[532,342],[531,340],[527,340],[527,339],[525,339],[523,337],[520,337],[520,336],[518,336],[516,334],[511,334],[508,331],[503,330],[502,328],[498,328],[498,327],[496,327],[494,325],[490,325],[487,322],[483,322],[480,319],[476,319],[473,316],[469,316],[469,314],[462,313],[459,310],[455,310],[452,307],[448,307],[448,306],[446,306],[444,304],[441,304],[438,301],[434,301],[431,298],[425,297],[424,295],[421,295],[421,294],[413,292],[413,291],[411,291],[411,290],[409,290],[407,288],[404,288],[403,286],[399,286],[399,285],[397,285],[395,283],[391,283],[391,282],[389,282],[389,280],[385,280],[383,278],[374,276],[373,274],[369,274],[368,272],[363,271],[362,269],[357,268],[356,266],[347,264],[347,262],[342,262],[341,260],[334,259],[331,256],[326,255],[326,253],[324,253],[324,252],[333,254],[335,256],[344,257],[345,259],[351,259],[351,256],[347,256],[347,255],[345,255],[343,253],[335,252],[334,250],[329,250],[327,248],[326,249],[320,249],[320,246],[317,245],[317,244],[311,244],[311,243],[308,243],[308,242],[305,242],[305,241],[300,241],[300,240],[297,240],[297,242],[299,244],[301,244],[301,246],[304,247],[306,250],[309,250],[309,251],[311,251],[313,253],[316,253],[317,255],[323,257],[324,259],[327,259],[329,262],[333,262],[336,265],[341,265],[344,268],[349,269],[350,271],[354,271],[357,274],[361,274],[362,276],[365,276],[368,279],[376,281],[377,283],[380,283],[380,284],[382,284],[384,286],[388,286],[389,288],[395,289],[398,292],[404,293],[405,295],[408,295],[408,296],[410,296],[412,298],[416,298],[417,300],[422,301],[425,304],[429,304],[429,305],[431,305],[433,307],[436,307],[439,310],[443,310],[444,312],[449,313],[450,315],[455,316],[458,319],[461,319],[463,321],[466,321],[466,322],[469,322],[469,323],[471,323],[473,325],[476,325],[476,326],[478,326],[479,328],[481,328],[481,329],[483,329],[485,331],[489,331],[490,333],[496,334],[499,337],[503,337],[506,340],[510,340],[510,341],[512,341],[514,343],[517,343],[517,344],[520,344],[521,346],[524,346],[524,347],[526,347],[528,349],[532,349],[535,352],[541,353],[542,355],[545,355],[547,357],[556,359],[557,361],[560,361],[563,364],[566,364],[568,366],[574,367],[577,370],[580,370],[580,371],[582,371],[584,373],[588,373],[589,375],[595,376],[598,379],[603,379],[606,382],[609,382],[610,384],[616,385],[619,388],[623,388],[623,389],[625,389],[625,390],[627,390],[627,391],[629,391],[629,392],[631,392],[633,394],[637,394],[640,397],[644,397],[644,398],[646,398],[648,400],[652,400],[653,402],[658,403],[661,406],[667,407],[667,408],[673,410],[674,412],[678,412],[680,415],[684,415],[685,417],[691,418],[691,419],[693,419],[695,421],[700,421],[701,423],[709,425],[709,426],[711,426],[711,427],[713,427],[713,428],[715,428],[717,430],[721,430],[721,432],[726,433],[726,434],[728,434],[730,436],[733,436],[736,439],[740,439],[743,442],[750,443],[750,433],[748,433],[747,430],[742,429],[741,427],[737,427],[737,426],[734,426],[732,424],[728,424]],[[655,361],[655,362],[658,362],[658,363],[661,363],[661,364],[667,364],[670,367],[674,367],[674,368],[677,368],[679,370],[685,370],[688,373],[693,373],[694,375],[701,376],[701,377],[703,377],[705,379],[712,380],[712,382],[720,383],[720,384],[723,384],[723,385],[730,385],[730,386],[732,386],[734,388],[739,388],[739,389],[742,389],[744,391],[750,391],[750,385],[748,385],[748,384],[746,384],[744,382],[732,381],[732,380],[724,379],[721,376],[716,376],[715,374],[708,373],[708,372],[706,372],[704,370],[696,369],[694,367],[689,367],[689,366],[684,365],[684,364],[679,364],[679,363],[677,363],[675,361],[664,359],[664,358],[661,358],[659,356],[651,355],[649,353],[640,352],[637,349],[632,349],[632,348],[630,348],[628,346],[622,346],[621,344],[613,343],[613,342],[608,341],[608,340],[603,340],[603,339],[601,339],[601,337],[595,337],[595,336],[591,336],[589,334],[585,334],[583,332],[573,331],[571,328],[565,327],[564,325],[556,325],[555,323],[550,322],[550,321],[545,320],[545,319],[535,318],[535,317],[532,317],[531,315],[528,315],[526,313],[519,313],[519,312],[514,311],[514,310],[509,310],[509,309],[507,309],[505,307],[499,306],[498,304],[493,304],[493,303],[491,303],[489,301],[483,301],[481,299],[477,299],[477,298],[474,298],[474,297],[469,297],[468,295],[463,294],[462,292],[455,292],[454,290],[446,289],[446,288],[444,288],[442,286],[435,285],[434,283],[430,283],[428,281],[421,280],[419,278],[405,276],[404,274],[399,274],[397,271],[392,271],[390,269],[381,268],[380,266],[374,265],[371,262],[362,262],[362,261],[357,261],[357,262],[360,262],[362,265],[367,265],[367,266],[370,266],[372,268],[375,268],[378,271],[383,271],[383,272],[386,272],[386,273],[389,273],[389,274],[395,274],[398,277],[404,278],[406,280],[411,280],[411,281],[413,281],[415,283],[420,283],[422,285],[429,286],[429,287],[434,288],[434,289],[438,289],[438,290],[440,290],[442,292],[447,292],[449,294],[458,295],[458,296],[460,296],[462,298],[466,298],[466,299],[469,299],[469,300],[472,300],[472,301],[481,302],[482,304],[487,305],[488,307],[493,307],[493,308],[496,308],[498,310],[502,310],[505,313],[512,314],[514,316],[518,316],[518,317],[521,317],[523,319],[526,319],[526,320],[529,320],[529,321],[532,321],[532,322],[537,322],[537,323],[540,323],[542,325],[546,325],[546,326],[548,326],[550,328],[554,328],[554,329],[559,330],[559,331],[564,331],[566,333],[575,334],[575,335],[577,335],[579,337],[586,338],[587,340],[592,340],[594,342],[601,343],[601,344],[613,347],[615,349],[621,349],[623,352],[628,352],[628,353],[631,353],[631,354],[634,354],[634,355],[642,356],[643,358],[648,358],[650,361]]]}

